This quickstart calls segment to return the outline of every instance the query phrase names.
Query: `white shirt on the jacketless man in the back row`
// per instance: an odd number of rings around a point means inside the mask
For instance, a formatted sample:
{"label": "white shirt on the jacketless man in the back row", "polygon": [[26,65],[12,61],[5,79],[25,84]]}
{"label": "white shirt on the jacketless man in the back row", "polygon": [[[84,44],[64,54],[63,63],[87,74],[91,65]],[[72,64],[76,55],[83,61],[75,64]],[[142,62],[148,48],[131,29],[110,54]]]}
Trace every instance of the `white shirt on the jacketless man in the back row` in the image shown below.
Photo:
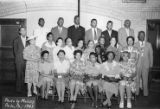
{"label": "white shirt on the jacketless man in the back row", "polygon": [[36,45],[38,47],[42,47],[42,44],[44,42],[46,42],[47,40],[47,34],[49,32],[49,29],[45,28],[45,27],[38,27],[37,29],[34,30],[34,35],[37,36],[37,39],[36,39]]}

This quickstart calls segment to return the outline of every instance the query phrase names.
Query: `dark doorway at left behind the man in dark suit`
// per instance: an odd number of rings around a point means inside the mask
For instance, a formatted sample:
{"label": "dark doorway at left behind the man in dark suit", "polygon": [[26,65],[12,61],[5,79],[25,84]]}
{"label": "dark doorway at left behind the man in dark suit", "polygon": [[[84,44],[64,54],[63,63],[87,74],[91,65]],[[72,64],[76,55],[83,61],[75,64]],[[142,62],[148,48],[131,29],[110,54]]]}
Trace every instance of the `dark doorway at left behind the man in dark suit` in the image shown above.
{"label": "dark doorway at left behind the man in dark suit", "polygon": [[0,81],[15,80],[13,40],[26,19],[0,19]]}

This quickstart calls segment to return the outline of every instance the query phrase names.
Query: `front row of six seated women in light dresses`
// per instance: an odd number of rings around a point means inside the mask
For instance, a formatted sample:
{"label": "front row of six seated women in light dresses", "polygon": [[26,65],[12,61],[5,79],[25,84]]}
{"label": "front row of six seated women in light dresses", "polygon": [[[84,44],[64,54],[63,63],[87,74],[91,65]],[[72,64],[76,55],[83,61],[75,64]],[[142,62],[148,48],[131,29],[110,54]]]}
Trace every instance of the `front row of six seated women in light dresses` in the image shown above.
{"label": "front row of six seated women in light dresses", "polygon": [[[51,85],[56,85],[58,101],[64,102],[65,87],[70,89],[70,102],[75,103],[81,89],[86,88],[91,99],[92,106],[97,107],[98,92],[106,94],[103,106],[111,107],[111,97],[120,93],[120,108],[124,108],[124,94],[127,92],[127,107],[131,108],[131,92],[135,89],[135,67],[129,62],[130,54],[123,52],[120,63],[114,61],[115,54],[107,52],[107,61],[103,64],[97,63],[97,55],[94,52],[89,54],[89,60],[84,63],[81,60],[82,51],[76,50],[72,64],[65,59],[65,51],[59,50],[59,60],[52,65],[47,62],[48,51],[41,53],[42,62],[39,66],[39,87],[42,89],[42,98],[48,98],[48,91]],[[116,78],[112,81],[110,78]]]}

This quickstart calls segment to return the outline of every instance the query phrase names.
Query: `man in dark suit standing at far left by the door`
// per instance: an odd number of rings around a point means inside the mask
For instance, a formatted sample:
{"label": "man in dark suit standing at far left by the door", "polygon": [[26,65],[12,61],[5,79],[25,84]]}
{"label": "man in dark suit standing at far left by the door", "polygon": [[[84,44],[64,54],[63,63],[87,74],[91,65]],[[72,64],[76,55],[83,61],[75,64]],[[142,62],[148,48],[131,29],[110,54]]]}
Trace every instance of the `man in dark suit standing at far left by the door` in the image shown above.
{"label": "man in dark suit standing at far left by the door", "polygon": [[23,50],[26,46],[26,29],[19,29],[20,36],[13,41],[13,52],[16,64],[16,91],[24,91],[24,76],[25,76],[25,60],[23,59]]}

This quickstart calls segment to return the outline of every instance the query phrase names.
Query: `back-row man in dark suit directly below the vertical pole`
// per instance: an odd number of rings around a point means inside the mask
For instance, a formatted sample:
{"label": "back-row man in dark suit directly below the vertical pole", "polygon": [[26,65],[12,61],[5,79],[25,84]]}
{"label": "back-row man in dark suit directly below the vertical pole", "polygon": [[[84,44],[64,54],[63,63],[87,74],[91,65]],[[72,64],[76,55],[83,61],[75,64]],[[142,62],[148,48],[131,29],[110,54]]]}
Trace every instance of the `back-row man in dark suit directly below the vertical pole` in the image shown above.
{"label": "back-row man in dark suit directly below the vertical pole", "polygon": [[74,17],[74,25],[68,28],[68,37],[72,39],[73,46],[77,46],[78,40],[84,40],[85,28],[80,26],[79,16]]}

